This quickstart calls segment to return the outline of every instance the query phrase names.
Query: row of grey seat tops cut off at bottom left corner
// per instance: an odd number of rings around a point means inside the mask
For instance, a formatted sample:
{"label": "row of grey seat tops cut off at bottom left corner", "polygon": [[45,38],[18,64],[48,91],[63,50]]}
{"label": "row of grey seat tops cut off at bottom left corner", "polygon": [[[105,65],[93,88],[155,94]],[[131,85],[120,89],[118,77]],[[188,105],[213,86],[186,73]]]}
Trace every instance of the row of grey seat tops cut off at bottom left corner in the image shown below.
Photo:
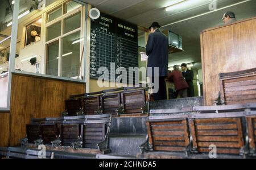
{"label": "row of grey seat tops cut off at bottom left corner", "polygon": [[[41,152],[38,150],[28,150],[27,148],[9,147],[7,152],[7,158],[41,159],[43,158],[43,156],[41,156],[40,153]],[[53,157],[53,152],[46,151],[46,159],[53,159]]]}

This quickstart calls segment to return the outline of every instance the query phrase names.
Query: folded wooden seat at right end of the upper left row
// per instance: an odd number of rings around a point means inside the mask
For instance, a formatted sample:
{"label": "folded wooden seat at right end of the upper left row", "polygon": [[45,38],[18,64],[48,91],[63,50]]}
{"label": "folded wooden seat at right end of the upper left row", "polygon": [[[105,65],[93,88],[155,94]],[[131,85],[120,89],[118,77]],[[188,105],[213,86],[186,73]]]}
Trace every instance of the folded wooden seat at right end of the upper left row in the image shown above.
{"label": "folded wooden seat at right end of the upper left row", "polygon": [[125,88],[121,93],[121,101],[125,114],[148,113],[146,88]]}

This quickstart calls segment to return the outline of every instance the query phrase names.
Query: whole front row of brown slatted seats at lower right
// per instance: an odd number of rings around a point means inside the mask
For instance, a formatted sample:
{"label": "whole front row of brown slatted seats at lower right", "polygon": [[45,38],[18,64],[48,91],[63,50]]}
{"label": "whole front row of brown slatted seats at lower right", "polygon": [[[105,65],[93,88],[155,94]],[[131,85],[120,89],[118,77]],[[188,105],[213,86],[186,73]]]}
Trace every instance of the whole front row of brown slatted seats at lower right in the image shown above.
{"label": "whole front row of brown slatted seats at lower right", "polygon": [[[177,110],[150,111],[146,121],[148,141],[142,144],[138,157],[209,158],[211,145],[217,148],[217,158],[256,156],[256,103],[183,108],[175,115]],[[177,141],[172,142],[172,135],[177,135]],[[187,154],[177,155],[174,151]]]}

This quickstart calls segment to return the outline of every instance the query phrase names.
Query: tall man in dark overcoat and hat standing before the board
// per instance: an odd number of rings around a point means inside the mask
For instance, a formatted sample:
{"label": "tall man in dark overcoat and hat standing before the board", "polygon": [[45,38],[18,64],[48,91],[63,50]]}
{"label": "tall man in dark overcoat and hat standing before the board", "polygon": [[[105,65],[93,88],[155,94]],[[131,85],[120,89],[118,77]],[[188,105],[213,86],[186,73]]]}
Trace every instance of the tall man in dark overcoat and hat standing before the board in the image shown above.
{"label": "tall man in dark overcoat and hat standing before the board", "polygon": [[[153,22],[148,28],[151,34],[148,36],[146,45],[146,54],[148,56],[147,68],[152,68],[152,74],[147,76],[151,78],[151,82],[156,84],[156,77],[159,78],[159,90],[153,94],[154,100],[167,99],[166,81],[168,73],[168,38],[160,30],[157,22]],[[159,73],[154,72],[154,68],[159,68]],[[156,85],[154,85],[156,88]]]}

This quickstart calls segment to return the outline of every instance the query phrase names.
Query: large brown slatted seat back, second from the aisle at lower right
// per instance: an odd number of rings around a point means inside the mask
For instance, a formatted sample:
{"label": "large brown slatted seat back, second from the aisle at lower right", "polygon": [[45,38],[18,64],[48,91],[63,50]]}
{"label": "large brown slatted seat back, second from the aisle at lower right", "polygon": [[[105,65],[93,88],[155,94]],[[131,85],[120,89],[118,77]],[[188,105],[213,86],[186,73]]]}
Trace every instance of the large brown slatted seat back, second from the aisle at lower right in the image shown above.
{"label": "large brown slatted seat back, second from the aisle at lower right", "polygon": [[217,148],[217,154],[244,155],[245,136],[242,129],[243,113],[193,114],[189,119],[193,149],[209,153],[209,146]]}

